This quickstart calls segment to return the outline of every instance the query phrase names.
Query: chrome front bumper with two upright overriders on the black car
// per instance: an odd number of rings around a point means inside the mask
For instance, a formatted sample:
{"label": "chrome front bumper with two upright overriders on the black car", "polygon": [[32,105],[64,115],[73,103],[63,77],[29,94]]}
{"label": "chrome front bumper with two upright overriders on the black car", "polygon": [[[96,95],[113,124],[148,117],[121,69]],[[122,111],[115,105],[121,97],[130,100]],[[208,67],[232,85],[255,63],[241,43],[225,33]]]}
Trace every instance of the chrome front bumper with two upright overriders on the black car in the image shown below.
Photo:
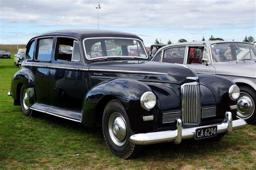
{"label": "chrome front bumper with two upright overriders on the black car", "polygon": [[[175,144],[179,144],[182,139],[193,139],[194,133],[197,128],[208,127],[192,127],[192,128],[183,128],[182,122],[180,119],[177,119],[177,130],[174,131],[162,131],[162,132],[151,132],[151,133],[138,133],[130,137],[130,141],[133,144],[137,145],[150,145],[157,144],[161,142],[170,142],[174,141]],[[237,130],[246,125],[246,121],[239,119],[232,121],[232,113],[226,112],[223,123],[213,124],[209,126],[217,125],[217,133],[226,133],[230,134],[233,130]]]}

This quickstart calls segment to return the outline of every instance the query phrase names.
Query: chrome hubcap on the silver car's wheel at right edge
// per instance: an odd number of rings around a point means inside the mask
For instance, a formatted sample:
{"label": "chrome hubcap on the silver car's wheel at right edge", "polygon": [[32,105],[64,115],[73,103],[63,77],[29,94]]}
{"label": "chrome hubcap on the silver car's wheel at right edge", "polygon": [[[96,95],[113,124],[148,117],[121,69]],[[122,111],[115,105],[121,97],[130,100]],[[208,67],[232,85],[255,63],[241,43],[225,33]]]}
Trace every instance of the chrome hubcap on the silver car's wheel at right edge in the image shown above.
{"label": "chrome hubcap on the silver car's wheel at right edge", "polygon": [[237,117],[239,119],[248,119],[252,116],[255,106],[252,97],[245,92],[240,92],[237,99]]}

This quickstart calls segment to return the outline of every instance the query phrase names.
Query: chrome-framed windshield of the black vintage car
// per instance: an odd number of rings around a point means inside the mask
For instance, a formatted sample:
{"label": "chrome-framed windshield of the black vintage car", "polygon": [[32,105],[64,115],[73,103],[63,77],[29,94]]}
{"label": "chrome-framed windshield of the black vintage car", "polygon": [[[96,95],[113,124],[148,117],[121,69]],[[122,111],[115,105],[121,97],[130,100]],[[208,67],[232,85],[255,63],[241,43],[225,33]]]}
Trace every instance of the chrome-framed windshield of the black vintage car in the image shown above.
{"label": "chrome-framed windshield of the black vintage car", "polygon": [[147,58],[142,42],[136,39],[93,38],[84,40],[86,58]]}

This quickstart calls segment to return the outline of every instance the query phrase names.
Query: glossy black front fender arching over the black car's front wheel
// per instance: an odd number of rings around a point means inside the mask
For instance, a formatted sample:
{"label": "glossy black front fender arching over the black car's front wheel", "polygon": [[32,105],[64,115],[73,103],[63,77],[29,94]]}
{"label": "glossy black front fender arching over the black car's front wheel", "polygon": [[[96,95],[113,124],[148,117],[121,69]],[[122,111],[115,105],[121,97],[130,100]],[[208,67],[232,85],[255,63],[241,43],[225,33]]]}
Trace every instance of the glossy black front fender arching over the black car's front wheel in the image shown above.
{"label": "glossy black front fender arching over the black car's front wheel", "polygon": [[97,84],[87,92],[84,99],[82,124],[94,126],[100,110],[104,111],[102,107],[105,107],[106,101],[119,99],[129,117],[133,132],[136,132],[143,126],[140,130],[152,127],[152,122],[143,121],[143,115],[152,115],[151,112],[154,109],[146,111],[140,106],[140,97],[146,91],[152,90],[144,83],[133,79],[110,79]]}

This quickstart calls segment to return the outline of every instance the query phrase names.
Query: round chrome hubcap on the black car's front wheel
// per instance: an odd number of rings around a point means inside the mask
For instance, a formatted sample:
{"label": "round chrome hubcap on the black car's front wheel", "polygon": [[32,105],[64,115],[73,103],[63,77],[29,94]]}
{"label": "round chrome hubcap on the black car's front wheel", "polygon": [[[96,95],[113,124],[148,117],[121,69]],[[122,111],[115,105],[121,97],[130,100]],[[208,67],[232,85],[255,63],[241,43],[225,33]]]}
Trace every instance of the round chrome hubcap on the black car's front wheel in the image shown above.
{"label": "round chrome hubcap on the black car's front wheel", "polygon": [[121,113],[113,112],[109,117],[109,134],[113,143],[123,146],[127,140],[127,125]]}

